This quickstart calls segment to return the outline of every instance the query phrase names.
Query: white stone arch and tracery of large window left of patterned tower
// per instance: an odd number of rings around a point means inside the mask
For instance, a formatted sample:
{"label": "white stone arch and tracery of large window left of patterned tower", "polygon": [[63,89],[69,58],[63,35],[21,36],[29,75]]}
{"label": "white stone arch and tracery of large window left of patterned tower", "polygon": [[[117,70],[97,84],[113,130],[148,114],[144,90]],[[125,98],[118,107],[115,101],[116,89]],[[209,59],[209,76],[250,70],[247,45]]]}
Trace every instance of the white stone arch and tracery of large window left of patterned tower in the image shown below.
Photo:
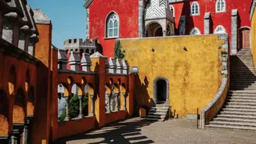
{"label": "white stone arch and tracery of large window left of patterned tower", "polygon": [[[110,28],[109,27],[110,20],[112,20],[112,21],[117,20],[117,27],[115,27],[114,23],[113,23],[113,27]],[[110,34],[110,30],[112,30],[112,34]],[[114,30],[117,30],[117,34],[114,34]],[[106,15],[106,19],[105,19],[105,38],[118,38],[119,37],[119,32],[120,32],[119,16],[117,15],[116,12],[111,11],[110,13],[108,13]]]}

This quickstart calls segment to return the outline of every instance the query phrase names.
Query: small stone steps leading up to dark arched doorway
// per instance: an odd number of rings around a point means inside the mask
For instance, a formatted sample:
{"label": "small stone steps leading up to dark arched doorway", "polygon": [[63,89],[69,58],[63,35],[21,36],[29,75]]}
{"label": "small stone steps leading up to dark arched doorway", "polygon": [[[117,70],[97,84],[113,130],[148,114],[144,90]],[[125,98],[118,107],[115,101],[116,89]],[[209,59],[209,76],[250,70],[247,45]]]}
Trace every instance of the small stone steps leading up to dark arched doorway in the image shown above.
{"label": "small stone steps leading up to dark arched doorway", "polygon": [[157,104],[151,107],[149,113],[146,116],[148,121],[164,121],[168,117],[169,106],[165,104]]}

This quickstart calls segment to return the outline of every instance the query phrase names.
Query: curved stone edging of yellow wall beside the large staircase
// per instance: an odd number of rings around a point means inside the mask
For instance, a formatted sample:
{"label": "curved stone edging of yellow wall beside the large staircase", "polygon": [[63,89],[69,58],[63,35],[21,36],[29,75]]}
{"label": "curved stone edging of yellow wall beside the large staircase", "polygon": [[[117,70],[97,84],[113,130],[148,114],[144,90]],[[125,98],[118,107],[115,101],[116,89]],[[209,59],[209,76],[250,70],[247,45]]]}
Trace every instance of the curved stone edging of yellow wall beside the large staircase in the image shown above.
{"label": "curved stone edging of yellow wall beside the large staircase", "polygon": [[[218,110],[218,108],[221,108],[221,107],[215,107],[215,104],[218,103],[218,100],[222,99],[223,96],[223,93],[225,92],[226,88],[229,88],[229,38],[226,34],[220,34],[218,35],[218,39],[219,40],[225,40],[225,43],[222,45],[222,46],[219,46],[218,49],[220,49],[220,63],[222,63],[222,67],[223,69],[220,71],[220,73],[222,75],[224,75],[225,77],[222,78],[222,85],[220,86],[220,88],[218,88],[218,92],[217,94],[215,95],[214,99],[211,100],[211,102],[204,107],[203,110],[201,110],[201,113],[200,113],[200,128],[204,128],[204,125],[208,123],[208,121],[211,121],[211,117],[208,118],[206,116],[206,113],[209,111],[209,110],[212,110],[212,109],[215,109],[215,110]],[[224,103],[222,103],[223,105]],[[221,106],[222,106],[221,105]],[[211,113],[211,114],[218,114],[217,113]],[[214,116],[212,116],[214,117]]]}

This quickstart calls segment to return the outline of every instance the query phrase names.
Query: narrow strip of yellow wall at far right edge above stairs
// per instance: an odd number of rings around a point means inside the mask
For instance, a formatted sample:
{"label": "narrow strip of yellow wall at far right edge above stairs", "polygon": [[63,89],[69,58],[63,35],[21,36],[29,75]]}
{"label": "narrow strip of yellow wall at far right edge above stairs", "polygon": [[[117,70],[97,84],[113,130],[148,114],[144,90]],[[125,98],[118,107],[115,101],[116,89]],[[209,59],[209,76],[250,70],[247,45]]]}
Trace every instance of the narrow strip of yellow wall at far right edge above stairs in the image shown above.
{"label": "narrow strip of yellow wall at far right edge above stairs", "polygon": [[[251,19],[251,54],[254,58],[254,63],[256,63],[256,41],[254,41],[256,38],[256,14],[254,13],[252,19]],[[254,64],[255,70],[256,65]]]}

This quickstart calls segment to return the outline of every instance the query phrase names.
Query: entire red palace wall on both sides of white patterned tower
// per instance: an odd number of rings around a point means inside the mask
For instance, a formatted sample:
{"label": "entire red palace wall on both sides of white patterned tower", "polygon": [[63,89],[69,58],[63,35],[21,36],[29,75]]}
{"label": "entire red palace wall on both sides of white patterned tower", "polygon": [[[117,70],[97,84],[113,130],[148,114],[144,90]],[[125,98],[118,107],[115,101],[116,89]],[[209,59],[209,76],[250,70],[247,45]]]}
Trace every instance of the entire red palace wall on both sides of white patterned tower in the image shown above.
{"label": "entire red palace wall on both sides of white patterned tower", "polygon": [[[232,31],[232,9],[238,9],[238,29],[240,27],[251,27],[249,10],[251,0],[225,0],[226,12],[216,13],[215,5],[217,0],[198,0],[200,5],[200,15],[191,16],[190,6],[195,1],[185,1],[172,3],[175,7],[175,28],[178,35],[178,23],[182,15],[186,16],[186,34],[197,27],[201,34],[204,34],[204,14],[211,13],[211,31],[213,34],[218,25],[225,27],[225,31],[229,34],[229,45],[231,45]],[[99,43],[103,46],[103,55],[114,57],[114,41],[115,38],[105,38],[105,20],[106,16],[112,11],[116,12],[120,19],[120,38],[137,38],[138,37],[138,5],[139,1],[116,1],[116,0],[94,0],[89,9],[89,38],[99,39]],[[237,31],[239,34],[239,31]],[[239,39],[239,38],[237,38]],[[238,46],[239,48],[239,46]],[[231,49],[230,49],[231,50]]]}

